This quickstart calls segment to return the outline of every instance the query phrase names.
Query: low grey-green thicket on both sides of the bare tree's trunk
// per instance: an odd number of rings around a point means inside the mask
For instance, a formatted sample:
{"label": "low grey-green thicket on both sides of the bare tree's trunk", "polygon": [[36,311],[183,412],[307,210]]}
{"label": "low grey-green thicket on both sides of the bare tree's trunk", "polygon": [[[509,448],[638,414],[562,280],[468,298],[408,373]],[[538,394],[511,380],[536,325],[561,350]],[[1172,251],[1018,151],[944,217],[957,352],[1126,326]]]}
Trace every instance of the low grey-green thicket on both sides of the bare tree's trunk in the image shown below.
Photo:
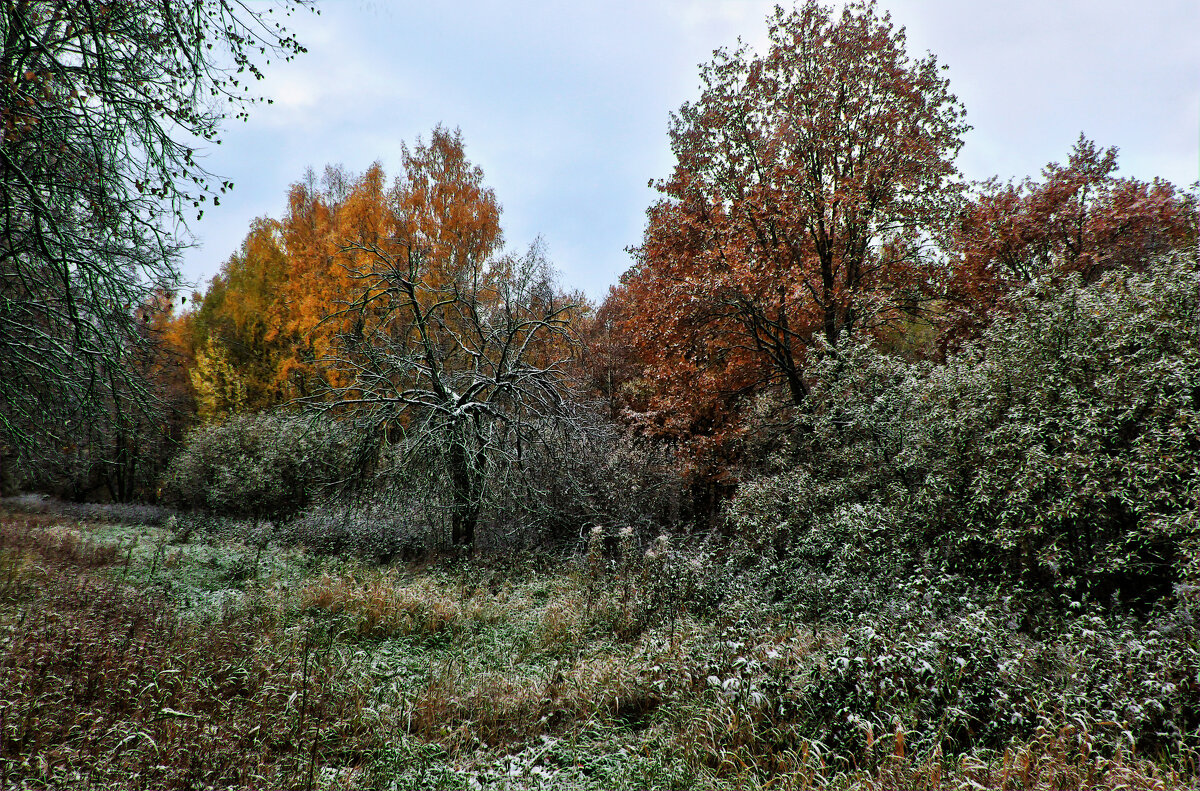
{"label": "low grey-green thicket on both sides of the bare tree's trunk", "polygon": [[[686,480],[670,448],[581,411],[569,426],[532,426],[520,455],[487,468],[473,503],[484,553],[570,552],[599,528],[641,544],[688,516]],[[304,413],[234,415],[185,441],[163,478],[164,503],[211,519],[226,537],[274,539],[377,561],[451,547],[457,507],[430,437],[380,437],[348,420]],[[610,547],[612,549],[612,547]]]}

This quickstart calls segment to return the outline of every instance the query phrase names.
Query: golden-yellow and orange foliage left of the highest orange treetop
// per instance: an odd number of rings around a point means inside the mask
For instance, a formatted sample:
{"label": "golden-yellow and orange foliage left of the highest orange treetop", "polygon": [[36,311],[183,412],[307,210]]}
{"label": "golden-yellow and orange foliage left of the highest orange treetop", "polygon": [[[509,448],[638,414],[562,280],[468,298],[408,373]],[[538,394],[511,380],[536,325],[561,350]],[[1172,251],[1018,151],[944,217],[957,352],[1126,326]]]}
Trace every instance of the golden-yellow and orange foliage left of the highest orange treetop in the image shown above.
{"label": "golden-yellow and orange foliage left of the highest orange treetop", "polygon": [[325,320],[349,299],[348,239],[380,240],[392,211],[383,167],[326,167],[292,185],[281,220],[251,223],[190,316],[191,376],[205,420],[325,391],[319,360],[344,329]]}

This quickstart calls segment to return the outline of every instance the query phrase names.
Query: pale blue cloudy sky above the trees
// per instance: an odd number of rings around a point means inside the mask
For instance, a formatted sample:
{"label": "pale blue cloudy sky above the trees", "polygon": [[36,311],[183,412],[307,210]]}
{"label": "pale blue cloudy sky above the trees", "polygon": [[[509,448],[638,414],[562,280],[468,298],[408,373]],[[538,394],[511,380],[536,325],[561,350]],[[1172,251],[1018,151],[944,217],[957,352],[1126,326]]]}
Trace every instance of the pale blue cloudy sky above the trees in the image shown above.
{"label": "pale blue cloudy sky above the trees", "polygon": [[[629,268],[648,186],[673,166],[670,113],[698,65],[740,37],[760,52],[775,0],[318,0],[294,13],[308,52],[258,83],[270,106],[228,121],[204,164],[234,181],[193,222],[184,276],[203,289],[254,217],[282,216],[307,168],[400,168],[438,124],[462,132],[514,251],[541,236],[565,287],[600,300]],[[786,4],[785,4],[786,5]],[[840,6],[840,4],[835,4]],[[252,7],[256,4],[251,4]],[[258,7],[262,7],[258,6]],[[1037,176],[1080,133],[1120,174],[1198,180],[1200,2],[878,0],[910,56],[948,67],[972,130],[971,180]]]}

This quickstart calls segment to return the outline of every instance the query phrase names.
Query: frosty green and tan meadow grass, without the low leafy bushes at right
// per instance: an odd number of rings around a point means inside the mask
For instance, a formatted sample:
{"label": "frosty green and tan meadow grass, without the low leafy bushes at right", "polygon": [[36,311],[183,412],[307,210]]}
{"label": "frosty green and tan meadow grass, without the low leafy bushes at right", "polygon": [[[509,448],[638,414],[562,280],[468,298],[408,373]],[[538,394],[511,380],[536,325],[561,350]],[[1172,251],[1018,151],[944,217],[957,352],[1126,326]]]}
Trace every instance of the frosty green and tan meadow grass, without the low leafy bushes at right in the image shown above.
{"label": "frosty green and tan meadow grass, without the low leafy bushes at right", "polygon": [[865,721],[839,753],[805,696],[846,630],[689,607],[653,552],[371,565],[178,535],[0,514],[0,786],[1200,787],[1186,751],[1052,712],[958,753]]}

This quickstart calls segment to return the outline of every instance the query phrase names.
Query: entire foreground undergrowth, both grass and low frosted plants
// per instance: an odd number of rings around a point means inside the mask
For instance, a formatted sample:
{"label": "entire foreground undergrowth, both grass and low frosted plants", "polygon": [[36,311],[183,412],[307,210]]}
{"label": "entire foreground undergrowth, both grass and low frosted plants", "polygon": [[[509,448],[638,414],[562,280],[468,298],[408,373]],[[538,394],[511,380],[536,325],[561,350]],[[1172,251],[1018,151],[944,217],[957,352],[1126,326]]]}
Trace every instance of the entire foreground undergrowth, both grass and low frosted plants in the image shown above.
{"label": "entire foreground undergrowth, both grass and low frosted plants", "polygon": [[814,625],[666,539],[376,565],[173,527],[0,514],[4,787],[1200,787],[1187,597],[1033,634],[908,581]]}

